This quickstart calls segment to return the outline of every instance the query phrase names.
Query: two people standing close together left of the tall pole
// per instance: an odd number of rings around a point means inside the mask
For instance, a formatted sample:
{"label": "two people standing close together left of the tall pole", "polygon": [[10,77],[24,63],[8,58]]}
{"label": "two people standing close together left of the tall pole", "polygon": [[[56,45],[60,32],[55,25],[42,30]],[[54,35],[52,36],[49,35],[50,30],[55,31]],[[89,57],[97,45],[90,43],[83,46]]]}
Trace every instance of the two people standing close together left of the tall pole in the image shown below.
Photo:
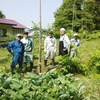
{"label": "two people standing close together left of the tall pole", "polygon": [[22,72],[22,65],[24,64],[25,70],[27,71],[27,62],[30,63],[30,71],[33,68],[33,56],[32,49],[34,47],[33,40],[28,38],[28,32],[24,33],[24,37],[17,34],[15,41],[12,41],[8,46],[7,50],[13,55],[11,72],[13,73],[14,68],[19,64],[19,72]]}

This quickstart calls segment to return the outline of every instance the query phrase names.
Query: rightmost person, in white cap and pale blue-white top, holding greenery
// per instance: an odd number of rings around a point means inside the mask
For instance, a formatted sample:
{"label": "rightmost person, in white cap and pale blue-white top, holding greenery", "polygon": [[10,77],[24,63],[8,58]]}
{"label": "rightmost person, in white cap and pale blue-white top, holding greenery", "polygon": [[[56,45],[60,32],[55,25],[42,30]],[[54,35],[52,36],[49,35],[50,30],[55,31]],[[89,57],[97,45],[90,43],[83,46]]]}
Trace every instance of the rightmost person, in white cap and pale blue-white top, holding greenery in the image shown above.
{"label": "rightmost person, in white cap and pale blue-white top, holding greenery", "polygon": [[70,58],[77,56],[77,50],[80,48],[80,40],[78,40],[78,34],[74,34],[74,38],[70,40]]}

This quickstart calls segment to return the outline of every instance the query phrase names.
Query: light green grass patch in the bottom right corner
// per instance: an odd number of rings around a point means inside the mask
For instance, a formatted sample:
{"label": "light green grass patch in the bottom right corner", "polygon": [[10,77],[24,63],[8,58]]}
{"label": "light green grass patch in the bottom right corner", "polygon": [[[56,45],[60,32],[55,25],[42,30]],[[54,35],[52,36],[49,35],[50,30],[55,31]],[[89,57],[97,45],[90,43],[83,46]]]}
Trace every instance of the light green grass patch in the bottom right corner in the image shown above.
{"label": "light green grass patch in the bottom right corner", "polygon": [[[73,77],[79,78],[78,83],[83,82],[83,85],[85,86],[84,91],[85,97],[88,97],[89,95],[94,95],[98,97],[100,100],[100,75],[99,74],[89,74],[88,76],[83,76],[83,75],[75,75]],[[75,83],[78,84],[78,83]],[[91,99],[86,99],[86,100],[95,100],[93,98]]]}

